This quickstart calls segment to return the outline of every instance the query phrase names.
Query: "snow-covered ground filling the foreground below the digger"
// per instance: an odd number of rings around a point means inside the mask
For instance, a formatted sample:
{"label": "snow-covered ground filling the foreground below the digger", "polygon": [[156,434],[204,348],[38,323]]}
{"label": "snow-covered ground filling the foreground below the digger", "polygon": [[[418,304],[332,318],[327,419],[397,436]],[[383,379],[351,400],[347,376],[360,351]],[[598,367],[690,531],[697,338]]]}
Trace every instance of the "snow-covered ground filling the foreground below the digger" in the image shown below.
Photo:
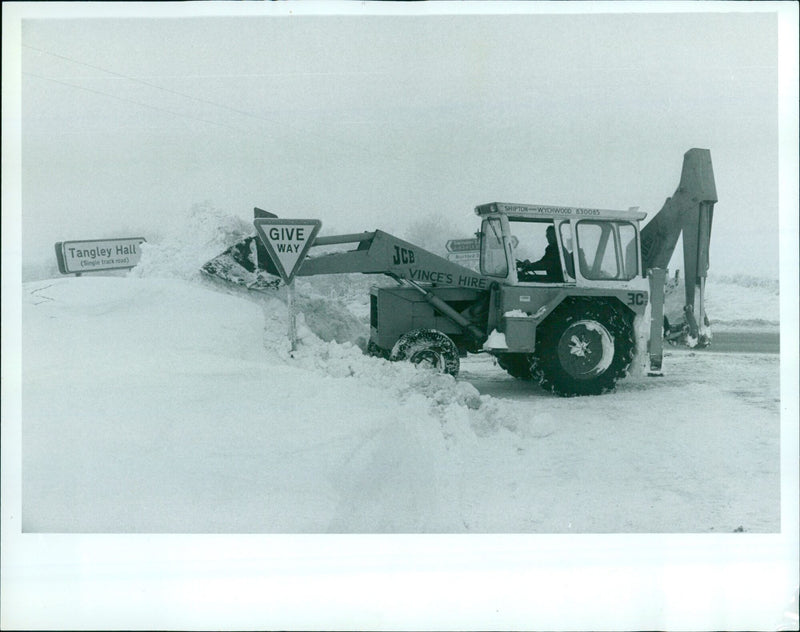
{"label": "snow-covered ground filling the foreground below the digger", "polygon": [[366,357],[364,314],[310,290],[346,340],[301,320],[291,357],[279,295],[182,276],[23,285],[24,532],[780,530],[776,355],[669,349],[562,399],[488,356]]}

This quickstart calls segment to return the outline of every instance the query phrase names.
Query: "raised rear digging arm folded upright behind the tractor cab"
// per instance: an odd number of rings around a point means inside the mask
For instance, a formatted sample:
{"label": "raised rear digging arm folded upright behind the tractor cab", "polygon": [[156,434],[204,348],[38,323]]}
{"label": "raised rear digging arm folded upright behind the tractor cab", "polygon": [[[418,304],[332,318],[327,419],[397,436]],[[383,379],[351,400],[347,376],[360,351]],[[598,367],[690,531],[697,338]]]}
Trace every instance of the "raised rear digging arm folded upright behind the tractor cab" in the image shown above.
{"label": "raised rear digging arm folded upright behind the tractor cab", "polygon": [[677,190],[641,231],[645,271],[666,270],[678,237],[683,234],[684,313],[690,335],[700,340],[708,337],[705,333],[707,319],[704,295],[711,220],[716,202],[711,152],[708,149],[690,149],[683,156],[683,170]]}

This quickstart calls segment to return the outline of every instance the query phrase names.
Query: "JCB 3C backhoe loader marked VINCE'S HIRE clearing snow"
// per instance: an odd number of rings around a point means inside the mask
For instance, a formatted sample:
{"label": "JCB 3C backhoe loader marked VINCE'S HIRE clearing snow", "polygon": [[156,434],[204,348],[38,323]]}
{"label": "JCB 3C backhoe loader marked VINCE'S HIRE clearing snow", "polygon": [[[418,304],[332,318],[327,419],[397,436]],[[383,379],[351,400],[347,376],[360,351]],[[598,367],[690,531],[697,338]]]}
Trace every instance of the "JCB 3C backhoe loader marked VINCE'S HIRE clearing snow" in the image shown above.
{"label": "JCB 3C backhoe loader marked VINCE'S HIRE clearing snow", "polygon": [[[397,282],[371,290],[370,353],[456,375],[461,355],[486,352],[554,393],[599,394],[626,374],[637,339],[646,339],[641,351],[660,374],[666,267],[681,233],[687,333],[691,343],[710,342],[703,294],[716,201],[710,152],[691,149],[678,189],[641,229],[646,213],[633,209],[493,202],[475,209],[479,272],[376,230],[317,237],[313,247],[355,248],[313,256],[312,247],[297,275],[359,272]],[[250,238],[204,271],[238,282],[258,269],[276,274],[260,246]]]}

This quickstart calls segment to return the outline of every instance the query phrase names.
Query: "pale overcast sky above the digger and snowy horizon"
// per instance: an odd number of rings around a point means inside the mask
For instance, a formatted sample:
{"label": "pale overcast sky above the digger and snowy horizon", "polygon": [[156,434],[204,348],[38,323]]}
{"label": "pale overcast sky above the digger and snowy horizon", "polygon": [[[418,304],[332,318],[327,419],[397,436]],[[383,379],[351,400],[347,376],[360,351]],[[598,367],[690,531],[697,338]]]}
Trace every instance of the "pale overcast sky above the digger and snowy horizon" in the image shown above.
{"label": "pale overcast sky above the digger and snowy horizon", "polygon": [[323,233],[652,216],[706,147],[712,273],[778,274],[774,13],[26,19],[20,52],[23,259],[206,201]]}

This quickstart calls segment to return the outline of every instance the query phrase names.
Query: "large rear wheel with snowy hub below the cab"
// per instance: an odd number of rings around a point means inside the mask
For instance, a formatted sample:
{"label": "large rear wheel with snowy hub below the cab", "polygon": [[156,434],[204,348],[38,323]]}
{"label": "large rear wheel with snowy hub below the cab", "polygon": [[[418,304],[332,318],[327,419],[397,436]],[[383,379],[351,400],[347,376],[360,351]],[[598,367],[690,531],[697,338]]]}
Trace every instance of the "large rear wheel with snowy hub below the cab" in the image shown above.
{"label": "large rear wheel with snowy hub below the cab", "polygon": [[599,395],[614,389],[633,360],[631,319],[605,301],[563,303],[539,326],[533,377],[563,396]]}

